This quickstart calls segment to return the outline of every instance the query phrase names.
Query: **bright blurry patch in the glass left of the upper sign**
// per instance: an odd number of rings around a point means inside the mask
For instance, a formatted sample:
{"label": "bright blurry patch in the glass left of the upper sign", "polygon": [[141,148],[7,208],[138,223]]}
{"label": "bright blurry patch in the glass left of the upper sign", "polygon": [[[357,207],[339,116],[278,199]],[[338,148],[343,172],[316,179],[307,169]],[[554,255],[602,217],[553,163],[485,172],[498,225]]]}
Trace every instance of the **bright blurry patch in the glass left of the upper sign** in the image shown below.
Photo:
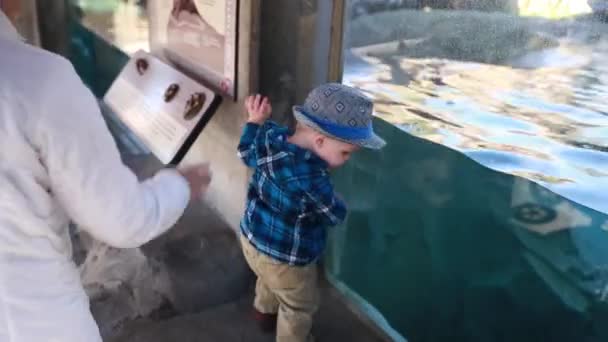
{"label": "bright blurry patch in the glass left of the upper sign", "polygon": [[146,0],[71,0],[81,22],[127,54],[149,51]]}

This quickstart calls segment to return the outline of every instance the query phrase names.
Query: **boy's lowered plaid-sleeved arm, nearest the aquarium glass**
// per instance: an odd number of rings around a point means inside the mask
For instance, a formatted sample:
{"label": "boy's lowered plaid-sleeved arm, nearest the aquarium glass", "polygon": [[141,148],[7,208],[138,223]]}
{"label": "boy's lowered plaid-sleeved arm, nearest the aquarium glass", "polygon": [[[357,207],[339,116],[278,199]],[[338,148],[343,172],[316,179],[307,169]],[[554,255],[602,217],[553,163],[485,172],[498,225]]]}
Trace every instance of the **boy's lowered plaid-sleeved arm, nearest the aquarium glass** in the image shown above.
{"label": "boy's lowered plaid-sleeved arm, nearest the aquarium glass", "polygon": [[317,177],[310,184],[306,195],[324,225],[337,226],[346,218],[346,205],[334,192],[329,177]]}

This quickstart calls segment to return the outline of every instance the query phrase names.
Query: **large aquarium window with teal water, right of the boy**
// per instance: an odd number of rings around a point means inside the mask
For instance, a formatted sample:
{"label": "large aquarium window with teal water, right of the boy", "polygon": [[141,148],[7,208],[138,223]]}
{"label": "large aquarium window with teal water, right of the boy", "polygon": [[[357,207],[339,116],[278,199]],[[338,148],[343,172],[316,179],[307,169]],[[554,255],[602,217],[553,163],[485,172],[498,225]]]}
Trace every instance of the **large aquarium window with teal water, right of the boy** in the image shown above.
{"label": "large aquarium window with teal water, right of the boy", "polygon": [[608,1],[348,1],[389,146],[328,271],[412,341],[608,340]]}

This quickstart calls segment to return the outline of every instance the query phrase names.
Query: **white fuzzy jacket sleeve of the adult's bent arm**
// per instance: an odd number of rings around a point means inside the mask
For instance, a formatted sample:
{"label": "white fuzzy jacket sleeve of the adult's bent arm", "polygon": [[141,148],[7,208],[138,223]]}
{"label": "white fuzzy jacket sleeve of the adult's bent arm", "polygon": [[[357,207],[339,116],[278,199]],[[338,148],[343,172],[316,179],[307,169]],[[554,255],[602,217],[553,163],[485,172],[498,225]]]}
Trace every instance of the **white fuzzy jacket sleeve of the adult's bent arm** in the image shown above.
{"label": "white fuzzy jacket sleeve of the adult's bent arm", "polygon": [[122,163],[96,98],[71,64],[60,61],[39,99],[35,125],[51,191],[94,238],[114,247],[139,247],[183,214],[190,198],[188,183],[175,170],[140,183]]}

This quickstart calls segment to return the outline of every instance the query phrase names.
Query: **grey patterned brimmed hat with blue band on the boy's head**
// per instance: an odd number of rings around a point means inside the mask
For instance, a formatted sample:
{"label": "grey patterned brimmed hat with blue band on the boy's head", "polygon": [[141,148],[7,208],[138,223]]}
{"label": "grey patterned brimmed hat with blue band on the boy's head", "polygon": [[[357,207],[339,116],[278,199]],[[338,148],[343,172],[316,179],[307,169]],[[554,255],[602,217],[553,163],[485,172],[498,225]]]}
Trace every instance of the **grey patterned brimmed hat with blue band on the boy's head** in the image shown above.
{"label": "grey patterned brimmed hat with blue band on the boy's head", "polygon": [[373,104],[363,93],[339,83],[313,89],[293,114],[303,125],[356,146],[379,150],[386,142],[374,133]]}

